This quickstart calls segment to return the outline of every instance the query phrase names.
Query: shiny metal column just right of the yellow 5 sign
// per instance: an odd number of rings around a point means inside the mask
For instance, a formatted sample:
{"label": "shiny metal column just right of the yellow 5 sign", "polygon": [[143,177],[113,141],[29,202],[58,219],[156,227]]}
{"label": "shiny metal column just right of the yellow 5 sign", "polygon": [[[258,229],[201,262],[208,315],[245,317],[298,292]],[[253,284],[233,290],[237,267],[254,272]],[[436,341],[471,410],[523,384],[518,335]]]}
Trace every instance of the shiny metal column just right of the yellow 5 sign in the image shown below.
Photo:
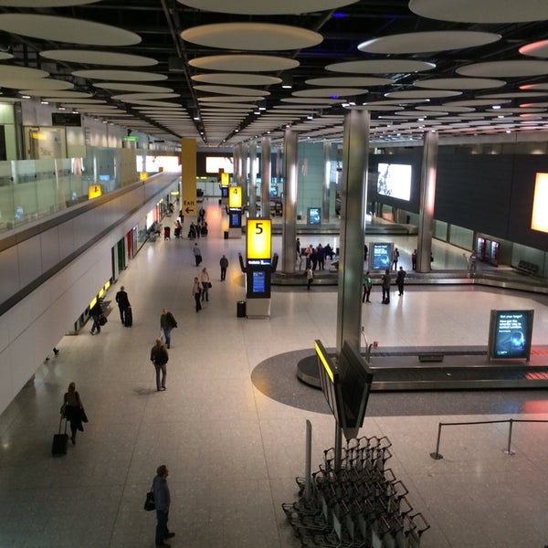
{"label": "shiny metal column just right of the yellow 5 sign", "polygon": [[295,271],[297,239],[297,133],[286,130],[283,142],[283,223],[281,233],[281,270],[286,274]]}

